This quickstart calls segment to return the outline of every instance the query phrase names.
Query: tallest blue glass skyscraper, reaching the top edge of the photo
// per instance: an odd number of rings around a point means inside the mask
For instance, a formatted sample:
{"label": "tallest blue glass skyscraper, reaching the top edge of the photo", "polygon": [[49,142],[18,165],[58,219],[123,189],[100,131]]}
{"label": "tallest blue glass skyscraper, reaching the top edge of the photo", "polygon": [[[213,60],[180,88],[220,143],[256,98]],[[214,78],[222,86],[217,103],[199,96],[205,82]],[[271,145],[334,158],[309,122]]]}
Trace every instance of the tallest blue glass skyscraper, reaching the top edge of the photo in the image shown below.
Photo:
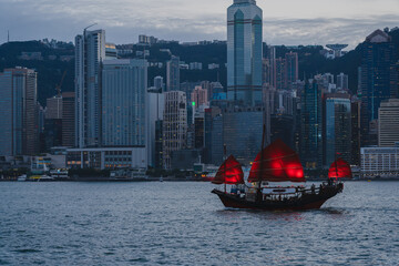
{"label": "tallest blue glass skyscraper, reaching the top edge of the photo", "polygon": [[227,99],[262,104],[262,18],[255,0],[234,0],[227,9]]}

